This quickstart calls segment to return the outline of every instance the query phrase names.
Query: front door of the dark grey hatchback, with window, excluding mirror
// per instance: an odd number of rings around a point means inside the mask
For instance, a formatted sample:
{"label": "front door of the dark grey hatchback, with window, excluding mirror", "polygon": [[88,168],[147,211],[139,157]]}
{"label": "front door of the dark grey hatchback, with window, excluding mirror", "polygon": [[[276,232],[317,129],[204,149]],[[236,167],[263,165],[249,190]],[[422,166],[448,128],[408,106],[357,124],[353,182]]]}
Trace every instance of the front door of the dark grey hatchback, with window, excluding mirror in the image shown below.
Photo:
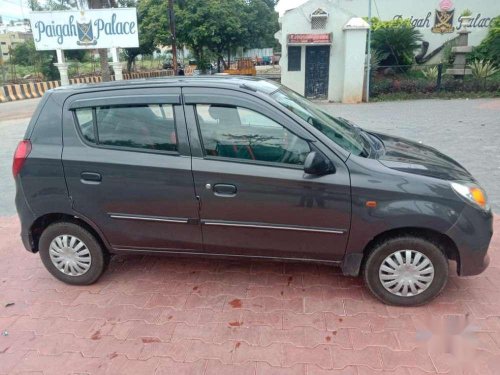
{"label": "front door of the dark grey hatchback, with window, excluding mirror", "polygon": [[[190,87],[183,96],[203,250],[339,261],[351,207],[343,161],[251,91]],[[312,149],[334,174],[304,173]]]}

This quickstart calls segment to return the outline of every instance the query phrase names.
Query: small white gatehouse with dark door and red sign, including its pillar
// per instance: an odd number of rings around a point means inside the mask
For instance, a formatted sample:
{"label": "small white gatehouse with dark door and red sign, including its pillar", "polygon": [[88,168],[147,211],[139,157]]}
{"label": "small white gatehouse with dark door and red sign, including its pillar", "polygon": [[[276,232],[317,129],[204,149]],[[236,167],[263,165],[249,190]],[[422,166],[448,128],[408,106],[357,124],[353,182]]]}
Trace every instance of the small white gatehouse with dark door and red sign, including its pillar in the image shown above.
{"label": "small white gatehouse with dark door and red sign, including its pillar", "polygon": [[310,0],[280,17],[281,83],[309,98],[362,99],[368,24],[334,0]]}

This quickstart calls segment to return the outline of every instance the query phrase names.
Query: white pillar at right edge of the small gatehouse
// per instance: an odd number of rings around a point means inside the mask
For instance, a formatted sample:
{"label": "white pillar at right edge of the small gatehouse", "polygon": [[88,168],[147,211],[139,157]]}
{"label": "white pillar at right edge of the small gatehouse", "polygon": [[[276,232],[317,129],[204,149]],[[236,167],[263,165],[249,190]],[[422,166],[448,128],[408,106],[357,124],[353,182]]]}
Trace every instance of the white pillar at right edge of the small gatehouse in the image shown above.
{"label": "white pillar at right edge of the small gatehouse", "polygon": [[369,27],[362,18],[351,18],[342,28],[344,30],[342,103],[359,103],[363,99],[366,31]]}

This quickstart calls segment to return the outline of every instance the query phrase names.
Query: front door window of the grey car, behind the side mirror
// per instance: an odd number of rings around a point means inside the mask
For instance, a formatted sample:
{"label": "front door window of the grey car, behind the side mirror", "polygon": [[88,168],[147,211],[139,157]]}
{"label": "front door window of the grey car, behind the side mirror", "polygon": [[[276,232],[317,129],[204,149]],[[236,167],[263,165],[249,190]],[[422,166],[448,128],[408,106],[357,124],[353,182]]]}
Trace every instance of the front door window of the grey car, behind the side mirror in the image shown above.
{"label": "front door window of the grey car, behind the side mirror", "polygon": [[303,165],[309,144],[261,113],[241,107],[197,105],[205,154]]}

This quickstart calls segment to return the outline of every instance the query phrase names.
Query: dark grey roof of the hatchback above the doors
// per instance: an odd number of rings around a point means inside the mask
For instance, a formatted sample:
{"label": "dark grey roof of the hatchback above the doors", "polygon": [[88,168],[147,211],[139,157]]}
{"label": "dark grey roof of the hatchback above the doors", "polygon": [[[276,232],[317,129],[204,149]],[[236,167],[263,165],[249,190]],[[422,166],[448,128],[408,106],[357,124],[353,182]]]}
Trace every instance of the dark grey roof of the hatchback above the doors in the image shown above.
{"label": "dark grey roof of the hatchback above the doors", "polygon": [[161,78],[142,78],[123,81],[110,81],[92,84],[76,84],[60,86],[53,92],[67,93],[75,92],[105,91],[115,89],[133,89],[148,87],[214,87],[214,88],[241,88],[270,94],[280,88],[277,82],[263,78],[248,76],[171,76]]}

